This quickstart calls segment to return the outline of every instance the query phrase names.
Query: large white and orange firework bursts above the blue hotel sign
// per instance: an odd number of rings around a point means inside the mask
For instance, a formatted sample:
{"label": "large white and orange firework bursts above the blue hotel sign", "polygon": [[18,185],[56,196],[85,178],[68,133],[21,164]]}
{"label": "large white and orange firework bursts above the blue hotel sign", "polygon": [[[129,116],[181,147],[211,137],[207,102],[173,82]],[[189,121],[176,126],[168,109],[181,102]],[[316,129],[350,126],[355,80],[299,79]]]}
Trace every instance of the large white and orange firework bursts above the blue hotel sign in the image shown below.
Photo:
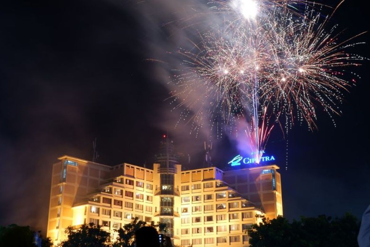
{"label": "large white and orange firework bursts above the blue hotel sign", "polygon": [[172,99],[176,107],[186,107],[182,117],[195,111],[189,119],[198,123],[195,128],[208,123],[217,131],[248,121],[245,132],[258,163],[273,129],[272,116],[278,123],[283,117],[286,128],[298,120],[312,130],[317,106],[330,117],[340,114],[342,91],[354,81],[346,67],[364,60],[346,52],[357,36],[340,41],[335,26],[326,31],[330,17],[320,18],[307,1],[295,1],[304,3],[302,13],[289,11],[293,1],[211,3],[219,4],[212,11],[234,16],[225,19],[223,28],[201,34],[193,50],[179,50],[185,68],[175,77],[179,90]]}

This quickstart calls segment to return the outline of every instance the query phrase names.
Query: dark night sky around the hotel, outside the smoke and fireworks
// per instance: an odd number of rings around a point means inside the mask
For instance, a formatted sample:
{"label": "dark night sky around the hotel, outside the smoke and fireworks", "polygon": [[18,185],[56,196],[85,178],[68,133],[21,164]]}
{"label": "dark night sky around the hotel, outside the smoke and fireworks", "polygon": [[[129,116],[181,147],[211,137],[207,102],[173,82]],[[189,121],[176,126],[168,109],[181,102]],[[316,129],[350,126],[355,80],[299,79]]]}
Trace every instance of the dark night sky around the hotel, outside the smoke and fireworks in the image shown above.
{"label": "dark night sky around the hotel, outside the smoke and fireworks", "polygon": [[[184,166],[202,167],[206,135],[195,138],[185,124],[174,128],[178,113],[165,101],[169,91],[161,64],[147,60],[170,49],[156,48],[161,40],[180,37],[168,38],[161,28],[178,2],[2,3],[0,225],[30,225],[45,233],[51,164],[63,154],[91,160],[95,137],[99,163],[150,166],[168,130],[176,150],[191,156]],[[369,30],[362,3],[347,0],[334,15],[347,37]],[[369,34],[356,41],[369,43]],[[369,44],[356,51],[369,57]],[[355,70],[362,79],[345,94],[336,127],[319,114],[318,130],[296,124],[289,132],[287,170],[286,140],[278,129],[271,136],[267,151],[281,167],[289,220],[344,212],[360,218],[370,204],[368,68],[364,63]],[[213,143],[213,163],[222,168],[237,152],[235,141],[225,137]]]}

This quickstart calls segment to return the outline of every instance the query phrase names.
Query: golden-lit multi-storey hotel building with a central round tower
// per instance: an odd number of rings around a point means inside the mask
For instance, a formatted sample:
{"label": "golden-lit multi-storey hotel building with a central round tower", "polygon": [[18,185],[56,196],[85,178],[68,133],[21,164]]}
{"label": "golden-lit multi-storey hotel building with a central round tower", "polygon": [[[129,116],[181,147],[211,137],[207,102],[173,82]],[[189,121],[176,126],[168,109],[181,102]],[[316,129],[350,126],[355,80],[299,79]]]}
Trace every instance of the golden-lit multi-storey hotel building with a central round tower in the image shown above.
{"label": "golden-lit multi-storey hotel building with a central round tower", "polygon": [[182,171],[168,141],[161,144],[153,169],[70,156],[58,160],[47,228],[54,244],[65,239],[68,226],[92,222],[114,234],[138,217],[166,223],[166,234],[179,246],[248,246],[244,231],[251,224],[283,214],[276,165]]}

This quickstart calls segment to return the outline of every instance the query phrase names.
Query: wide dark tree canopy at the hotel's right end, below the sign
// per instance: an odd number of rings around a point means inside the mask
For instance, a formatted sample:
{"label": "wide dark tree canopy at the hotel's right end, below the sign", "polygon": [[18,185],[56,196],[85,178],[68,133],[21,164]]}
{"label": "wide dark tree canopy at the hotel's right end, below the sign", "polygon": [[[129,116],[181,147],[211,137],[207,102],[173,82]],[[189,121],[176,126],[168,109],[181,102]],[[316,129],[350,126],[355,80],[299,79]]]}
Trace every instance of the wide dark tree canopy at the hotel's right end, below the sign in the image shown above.
{"label": "wide dark tree canopy at the hotel's right end, below the sign", "polygon": [[289,221],[283,216],[253,224],[248,231],[251,247],[352,247],[357,245],[360,224],[356,217],[301,217]]}

